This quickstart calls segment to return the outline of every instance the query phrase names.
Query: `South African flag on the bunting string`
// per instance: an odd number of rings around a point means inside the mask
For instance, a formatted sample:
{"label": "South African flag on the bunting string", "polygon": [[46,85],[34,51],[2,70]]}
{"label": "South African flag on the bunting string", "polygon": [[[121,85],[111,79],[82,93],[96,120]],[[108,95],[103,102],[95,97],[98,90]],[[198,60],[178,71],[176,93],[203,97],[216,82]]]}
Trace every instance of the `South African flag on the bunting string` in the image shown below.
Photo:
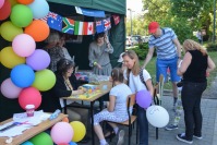
{"label": "South African flag on the bunting string", "polygon": [[68,34],[74,34],[74,21],[71,19],[62,19],[62,32]]}

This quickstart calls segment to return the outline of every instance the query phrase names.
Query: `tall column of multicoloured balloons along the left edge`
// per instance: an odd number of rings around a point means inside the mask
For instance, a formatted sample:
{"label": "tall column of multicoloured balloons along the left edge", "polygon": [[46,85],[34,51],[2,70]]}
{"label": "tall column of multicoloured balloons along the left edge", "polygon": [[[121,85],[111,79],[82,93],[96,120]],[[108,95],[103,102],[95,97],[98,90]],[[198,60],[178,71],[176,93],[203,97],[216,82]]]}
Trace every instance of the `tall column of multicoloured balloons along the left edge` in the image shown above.
{"label": "tall column of multicoloured balloons along the left edge", "polygon": [[47,51],[36,49],[36,43],[45,40],[49,26],[40,19],[49,13],[46,0],[0,0],[0,35],[11,46],[0,51],[1,63],[12,69],[10,77],[1,84],[4,97],[19,98],[20,106],[40,106],[39,90],[50,89],[56,83]]}

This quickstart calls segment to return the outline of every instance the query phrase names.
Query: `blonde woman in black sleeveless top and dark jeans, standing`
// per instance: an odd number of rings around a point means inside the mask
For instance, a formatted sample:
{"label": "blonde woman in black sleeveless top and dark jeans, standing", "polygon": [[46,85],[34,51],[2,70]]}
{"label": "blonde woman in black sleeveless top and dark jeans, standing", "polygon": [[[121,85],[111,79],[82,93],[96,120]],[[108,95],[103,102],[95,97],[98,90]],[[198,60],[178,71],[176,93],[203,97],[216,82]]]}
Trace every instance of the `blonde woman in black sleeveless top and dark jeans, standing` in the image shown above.
{"label": "blonde woman in black sleeveless top and dark jeans, standing", "polygon": [[202,138],[201,98],[206,89],[206,74],[215,69],[215,63],[206,50],[196,41],[183,43],[185,55],[178,75],[183,76],[181,99],[184,110],[185,133],[177,135],[181,142],[192,144],[193,137]]}

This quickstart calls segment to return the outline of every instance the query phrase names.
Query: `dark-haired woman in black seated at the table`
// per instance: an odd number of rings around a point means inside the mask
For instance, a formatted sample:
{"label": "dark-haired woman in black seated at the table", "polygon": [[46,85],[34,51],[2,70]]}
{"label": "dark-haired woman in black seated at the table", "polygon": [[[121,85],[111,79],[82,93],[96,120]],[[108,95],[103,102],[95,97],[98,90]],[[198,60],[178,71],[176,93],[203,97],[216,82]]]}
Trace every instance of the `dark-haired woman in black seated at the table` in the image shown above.
{"label": "dark-haired woman in black seated at the table", "polygon": [[[43,92],[43,102],[41,109],[46,112],[53,112],[57,109],[62,110],[63,99],[61,97],[69,97],[72,95],[81,95],[85,92],[85,88],[79,87],[77,82],[72,77],[74,68],[74,62],[68,59],[61,59],[57,63],[56,84],[48,90]],[[79,89],[77,89],[79,88]],[[77,104],[73,101],[68,101],[68,104]],[[69,108],[68,114],[70,121],[82,121],[87,124],[87,113],[86,109],[80,108]]]}

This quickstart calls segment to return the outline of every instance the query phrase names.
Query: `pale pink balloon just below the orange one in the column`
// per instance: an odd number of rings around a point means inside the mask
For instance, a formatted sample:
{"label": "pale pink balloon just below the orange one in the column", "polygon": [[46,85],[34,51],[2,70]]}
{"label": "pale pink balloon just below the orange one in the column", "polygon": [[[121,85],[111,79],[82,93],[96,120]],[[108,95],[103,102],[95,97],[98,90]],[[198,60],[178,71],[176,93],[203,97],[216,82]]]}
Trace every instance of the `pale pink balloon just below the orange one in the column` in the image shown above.
{"label": "pale pink balloon just below the orange one in the column", "polygon": [[21,57],[28,57],[35,51],[36,44],[29,35],[20,34],[13,39],[12,48],[16,55]]}

